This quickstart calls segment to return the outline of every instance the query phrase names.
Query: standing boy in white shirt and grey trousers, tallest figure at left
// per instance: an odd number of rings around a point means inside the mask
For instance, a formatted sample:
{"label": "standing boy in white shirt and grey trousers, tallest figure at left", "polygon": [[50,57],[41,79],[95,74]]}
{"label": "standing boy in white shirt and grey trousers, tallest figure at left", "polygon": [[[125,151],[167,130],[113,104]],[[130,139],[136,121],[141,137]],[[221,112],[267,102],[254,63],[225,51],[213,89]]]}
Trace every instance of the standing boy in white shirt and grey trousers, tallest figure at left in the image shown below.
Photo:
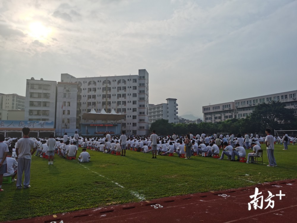
{"label": "standing boy in white shirt and grey trousers, tallest figure at left", "polygon": [[29,138],[30,128],[24,127],[23,138],[18,140],[17,148],[15,152],[18,156],[18,178],[16,187],[17,189],[22,189],[22,176],[24,176],[24,189],[30,187],[30,170],[31,170],[31,157],[36,150],[36,145],[33,139]]}

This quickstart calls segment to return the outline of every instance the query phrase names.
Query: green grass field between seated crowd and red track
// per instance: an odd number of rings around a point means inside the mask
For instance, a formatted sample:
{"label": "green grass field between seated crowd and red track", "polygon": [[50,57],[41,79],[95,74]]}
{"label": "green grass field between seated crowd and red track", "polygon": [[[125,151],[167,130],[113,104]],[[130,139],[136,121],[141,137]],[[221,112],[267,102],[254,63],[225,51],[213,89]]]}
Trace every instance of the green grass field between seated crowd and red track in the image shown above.
{"label": "green grass field between seated crowd and red track", "polygon": [[266,148],[264,165],[230,162],[226,157],[185,160],[176,154],[151,159],[151,154],[130,150],[126,157],[87,150],[91,162],[83,164],[55,156],[54,164],[48,165],[33,156],[30,189],[2,185],[0,222],[297,178],[297,145],[288,147],[285,151],[275,145],[278,167],[266,166]]}

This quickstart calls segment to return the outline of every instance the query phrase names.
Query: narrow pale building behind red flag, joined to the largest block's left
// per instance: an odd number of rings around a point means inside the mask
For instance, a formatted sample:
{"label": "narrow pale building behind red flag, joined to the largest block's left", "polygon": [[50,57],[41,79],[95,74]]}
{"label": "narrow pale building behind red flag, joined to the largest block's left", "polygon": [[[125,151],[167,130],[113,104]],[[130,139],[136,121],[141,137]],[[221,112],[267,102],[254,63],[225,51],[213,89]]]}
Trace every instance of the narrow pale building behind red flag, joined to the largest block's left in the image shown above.
{"label": "narrow pale building behind red flag, joined to the largest block's left", "polygon": [[80,129],[80,91],[78,83],[58,82],[56,134],[74,135]]}

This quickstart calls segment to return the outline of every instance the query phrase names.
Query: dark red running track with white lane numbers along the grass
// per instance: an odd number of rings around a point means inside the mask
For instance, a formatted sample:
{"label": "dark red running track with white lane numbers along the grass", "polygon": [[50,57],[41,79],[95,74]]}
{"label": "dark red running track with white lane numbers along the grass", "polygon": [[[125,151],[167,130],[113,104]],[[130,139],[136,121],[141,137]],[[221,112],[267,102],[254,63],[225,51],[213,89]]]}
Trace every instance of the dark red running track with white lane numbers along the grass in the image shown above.
{"label": "dark red running track with white lane numbers along the grass", "polygon": [[[263,208],[254,209],[248,203],[254,198],[255,188],[263,195]],[[265,201],[271,192],[274,197],[268,206]],[[280,193],[281,191],[281,193]],[[285,196],[276,196],[285,194]],[[280,200],[281,198],[281,200]],[[258,205],[260,206],[260,201]],[[266,208],[268,206],[268,208]],[[265,209],[266,208],[266,209]],[[89,223],[89,222],[267,222],[296,221],[297,180],[282,180],[255,186],[206,193],[166,197],[151,201],[113,205],[103,208],[21,219],[9,223]],[[295,219],[295,220],[294,220]]]}

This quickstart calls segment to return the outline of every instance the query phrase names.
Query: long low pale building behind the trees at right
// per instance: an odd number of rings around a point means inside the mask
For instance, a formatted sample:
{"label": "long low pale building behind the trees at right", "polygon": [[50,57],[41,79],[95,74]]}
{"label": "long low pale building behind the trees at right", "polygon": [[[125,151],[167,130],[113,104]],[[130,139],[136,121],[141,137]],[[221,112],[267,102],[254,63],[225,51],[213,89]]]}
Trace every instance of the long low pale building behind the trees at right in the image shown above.
{"label": "long low pale building behind the trees at right", "polygon": [[245,118],[253,112],[255,106],[258,104],[271,103],[272,101],[280,101],[284,103],[287,108],[297,109],[296,93],[297,90],[203,106],[203,118],[205,122],[219,122],[231,118]]}

